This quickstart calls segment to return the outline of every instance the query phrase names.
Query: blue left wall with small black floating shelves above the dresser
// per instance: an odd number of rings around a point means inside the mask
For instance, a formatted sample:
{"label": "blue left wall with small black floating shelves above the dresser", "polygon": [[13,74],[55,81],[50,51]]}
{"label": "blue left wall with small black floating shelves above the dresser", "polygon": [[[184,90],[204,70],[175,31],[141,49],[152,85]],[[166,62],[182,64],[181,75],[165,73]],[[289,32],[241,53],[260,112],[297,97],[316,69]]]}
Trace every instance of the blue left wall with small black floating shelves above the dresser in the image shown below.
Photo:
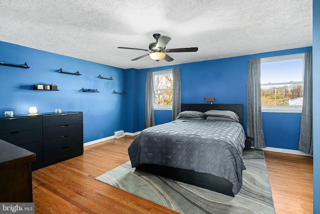
{"label": "blue left wall with small black floating shelves above the dresser", "polygon": [[[28,114],[29,106],[36,106],[38,113],[54,112],[56,108],[62,112],[82,111],[84,142],[111,136],[124,128],[126,95],[112,93],[126,90],[124,70],[4,42],[0,42],[0,50],[0,62],[26,62],[30,67],[0,66],[0,114]],[[60,74],[60,68],[82,75]],[[99,74],[114,80],[99,79]],[[57,84],[59,91],[32,90],[33,84]],[[80,92],[82,87],[96,88],[100,93]]]}

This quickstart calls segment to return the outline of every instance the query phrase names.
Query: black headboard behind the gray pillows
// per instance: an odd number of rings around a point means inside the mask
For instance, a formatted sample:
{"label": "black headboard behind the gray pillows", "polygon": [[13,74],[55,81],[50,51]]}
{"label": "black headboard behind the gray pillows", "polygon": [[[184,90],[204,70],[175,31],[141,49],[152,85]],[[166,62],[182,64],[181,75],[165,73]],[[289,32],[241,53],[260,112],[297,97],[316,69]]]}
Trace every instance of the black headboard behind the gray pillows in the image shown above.
{"label": "black headboard behind the gray pillows", "polygon": [[242,104],[181,104],[182,111],[201,111],[208,110],[230,110],[239,117],[239,123],[243,126],[243,105]]}

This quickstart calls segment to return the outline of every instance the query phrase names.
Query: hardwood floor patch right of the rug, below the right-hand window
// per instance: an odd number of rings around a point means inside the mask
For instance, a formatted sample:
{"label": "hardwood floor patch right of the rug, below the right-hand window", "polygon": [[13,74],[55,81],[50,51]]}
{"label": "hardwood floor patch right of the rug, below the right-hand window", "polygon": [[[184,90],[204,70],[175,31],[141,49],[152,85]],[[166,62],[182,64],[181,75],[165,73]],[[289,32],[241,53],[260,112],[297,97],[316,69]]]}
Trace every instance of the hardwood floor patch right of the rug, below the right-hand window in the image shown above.
{"label": "hardwood floor patch right of the rug, below the right-hand window", "polygon": [[264,151],[276,213],[313,212],[313,158]]}

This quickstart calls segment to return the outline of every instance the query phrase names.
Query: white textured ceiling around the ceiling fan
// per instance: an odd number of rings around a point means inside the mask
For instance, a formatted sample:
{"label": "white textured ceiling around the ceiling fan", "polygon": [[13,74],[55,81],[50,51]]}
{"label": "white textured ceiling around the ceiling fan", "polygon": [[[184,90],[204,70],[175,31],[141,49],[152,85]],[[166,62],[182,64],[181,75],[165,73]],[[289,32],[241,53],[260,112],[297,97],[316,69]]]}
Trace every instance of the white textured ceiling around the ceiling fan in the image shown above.
{"label": "white textured ceiling around the ceiling fan", "polygon": [[151,68],[152,35],[176,65],[312,46],[312,0],[15,0],[0,2],[0,41],[117,68]]}

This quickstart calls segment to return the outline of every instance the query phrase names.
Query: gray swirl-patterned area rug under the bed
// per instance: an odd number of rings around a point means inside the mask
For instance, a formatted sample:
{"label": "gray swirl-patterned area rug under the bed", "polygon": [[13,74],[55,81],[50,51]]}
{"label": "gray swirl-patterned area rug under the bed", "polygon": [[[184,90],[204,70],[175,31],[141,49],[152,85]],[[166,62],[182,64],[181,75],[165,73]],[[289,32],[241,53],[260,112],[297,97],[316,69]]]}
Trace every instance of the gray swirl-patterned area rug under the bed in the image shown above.
{"label": "gray swirl-patterned area rug under the bed", "polygon": [[234,197],[135,171],[130,161],[95,179],[180,213],[275,213],[263,150],[244,150],[243,159],[242,187]]}

